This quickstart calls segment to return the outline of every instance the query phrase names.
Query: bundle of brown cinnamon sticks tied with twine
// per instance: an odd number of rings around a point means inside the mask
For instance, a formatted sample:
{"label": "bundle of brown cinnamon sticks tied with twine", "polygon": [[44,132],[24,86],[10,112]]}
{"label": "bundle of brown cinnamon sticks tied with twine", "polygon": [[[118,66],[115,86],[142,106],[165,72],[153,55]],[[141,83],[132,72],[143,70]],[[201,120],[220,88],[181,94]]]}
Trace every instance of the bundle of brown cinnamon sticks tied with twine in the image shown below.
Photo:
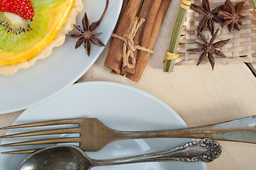
{"label": "bundle of brown cinnamon sticks tied with twine", "polygon": [[[133,38],[133,44],[139,45],[152,51],[155,40],[164,21],[167,9],[172,0],[123,0],[123,7],[116,26],[116,35],[127,35],[130,25],[134,19],[145,19],[145,22],[138,28]],[[135,64],[128,67],[123,64],[123,45],[125,41],[113,38],[111,47],[106,57],[105,66],[110,68],[113,74],[121,74],[128,79],[138,82],[142,77],[143,71],[148,63],[151,52],[147,50],[133,49]],[[128,63],[132,63],[128,57]]]}

